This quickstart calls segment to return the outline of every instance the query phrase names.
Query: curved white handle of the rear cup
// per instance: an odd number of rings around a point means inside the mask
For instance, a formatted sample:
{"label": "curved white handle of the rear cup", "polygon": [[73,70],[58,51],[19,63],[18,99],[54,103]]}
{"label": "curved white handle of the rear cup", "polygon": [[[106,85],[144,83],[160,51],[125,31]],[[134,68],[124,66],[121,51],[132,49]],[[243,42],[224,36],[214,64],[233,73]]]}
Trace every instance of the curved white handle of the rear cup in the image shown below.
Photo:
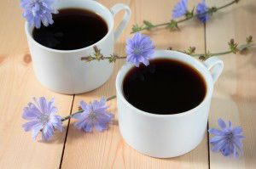
{"label": "curved white handle of the rear cup", "polygon": [[117,3],[113,5],[112,8],[110,8],[110,12],[111,14],[113,14],[113,17],[115,14],[118,14],[121,10],[125,10],[125,15],[123,17],[123,20],[119,23],[118,27],[113,33],[114,41],[118,40],[118,38],[120,37],[121,33],[124,31],[126,25],[128,24],[131,18],[131,9],[124,3]]}

